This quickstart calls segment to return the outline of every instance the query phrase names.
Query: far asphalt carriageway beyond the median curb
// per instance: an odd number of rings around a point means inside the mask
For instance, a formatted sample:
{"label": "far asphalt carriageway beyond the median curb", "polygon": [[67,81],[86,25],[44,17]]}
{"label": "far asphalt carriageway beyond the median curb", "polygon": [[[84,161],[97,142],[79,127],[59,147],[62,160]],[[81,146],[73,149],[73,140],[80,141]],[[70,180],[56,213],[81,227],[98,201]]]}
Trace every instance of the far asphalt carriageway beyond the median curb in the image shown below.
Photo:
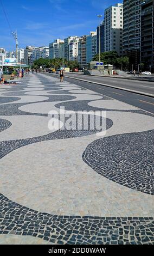
{"label": "far asphalt carriageway beyond the median curb", "polygon": [[109,86],[115,86],[130,90],[136,90],[141,93],[149,93],[154,95],[154,82],[148,81],[137,81],[137,80],[127,80],[122,78],[114,78],[114,77],[99,77],[99,76],[86,76],[86,75],[78,75],[78,74],[66,74],[66,76],[72,76],[75,78],[80,78],[82,80],[88,80],[92,82],[98,82],[107,84]]}

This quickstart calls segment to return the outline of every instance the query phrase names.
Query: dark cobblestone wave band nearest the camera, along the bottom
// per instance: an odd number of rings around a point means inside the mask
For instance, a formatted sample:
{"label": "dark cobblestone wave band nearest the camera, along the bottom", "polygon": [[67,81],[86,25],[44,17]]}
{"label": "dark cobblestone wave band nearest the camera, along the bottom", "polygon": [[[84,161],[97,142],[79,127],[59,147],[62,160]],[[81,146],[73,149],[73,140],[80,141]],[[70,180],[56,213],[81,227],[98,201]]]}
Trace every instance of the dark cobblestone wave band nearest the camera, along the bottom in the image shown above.
{"label": "dark cobblestone wave band nearest the camera, along the bottom", "polygon": [[153,244],[153,218],[57,216],[0,196],[0,234],[30,235],[56,244]]}

